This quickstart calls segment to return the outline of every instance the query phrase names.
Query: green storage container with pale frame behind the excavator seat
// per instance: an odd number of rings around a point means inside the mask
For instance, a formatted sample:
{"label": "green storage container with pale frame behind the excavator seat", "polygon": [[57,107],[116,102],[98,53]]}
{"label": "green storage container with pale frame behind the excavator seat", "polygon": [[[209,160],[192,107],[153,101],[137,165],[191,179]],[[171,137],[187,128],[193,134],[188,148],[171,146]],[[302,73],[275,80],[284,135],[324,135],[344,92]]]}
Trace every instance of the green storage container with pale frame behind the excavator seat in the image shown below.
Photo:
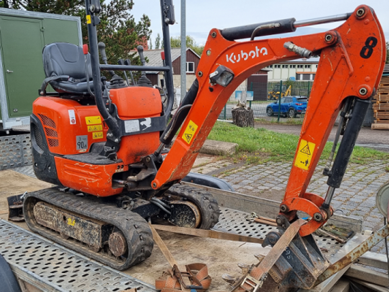
{"label": "green storage container with pale frame behind the excavator seat", "polygon": [[53,42],[82,45],[78,17],[0,9],[0,119],[3,129],[28,126],[45,78],[42,50]]}

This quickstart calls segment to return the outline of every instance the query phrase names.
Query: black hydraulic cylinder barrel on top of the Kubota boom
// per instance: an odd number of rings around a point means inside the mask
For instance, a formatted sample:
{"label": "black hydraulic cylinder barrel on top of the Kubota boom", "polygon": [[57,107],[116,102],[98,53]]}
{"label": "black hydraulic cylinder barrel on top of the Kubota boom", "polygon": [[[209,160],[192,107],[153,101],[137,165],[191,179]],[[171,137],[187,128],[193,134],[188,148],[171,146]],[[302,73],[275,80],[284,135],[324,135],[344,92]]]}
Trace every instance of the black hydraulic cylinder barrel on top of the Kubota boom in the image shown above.
{"label": "black hydraulic cylinder barrel on top of the Kubota boom", "polygon": [[271,24],[271,23],[280,23],[280,27],[265,28],[265,29],[259,31],[258,34],[256,34],[256,37],[291,33],[291,32],[294,32],[296,30],[296,28],[293,26],[293,23],[295,21],[296,21],[295,18],[287,18],[287,19],[281,19],[281,20],[273,20],[273,21],[267,21],[267,22],[262,22],[262,23],[255,23],[255,24],[249,24],[249,25],[243,25],[243,26],[230,27],[230,28],[223,29],[221,31],[221,34],[225,39],[228,39],[228,40],[250,38],[253,31],[258,26],[261,26],[264,24]]}

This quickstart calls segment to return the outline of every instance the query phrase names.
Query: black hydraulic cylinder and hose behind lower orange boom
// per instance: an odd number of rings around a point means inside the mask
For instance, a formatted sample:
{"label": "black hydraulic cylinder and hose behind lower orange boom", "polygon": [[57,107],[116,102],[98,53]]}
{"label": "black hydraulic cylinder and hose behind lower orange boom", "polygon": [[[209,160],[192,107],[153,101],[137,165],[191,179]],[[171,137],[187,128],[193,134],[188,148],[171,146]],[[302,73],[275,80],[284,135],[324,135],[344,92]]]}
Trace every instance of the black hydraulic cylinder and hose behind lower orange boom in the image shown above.
{"label": "black hydraulic cylinder and hose behind lower orange boom", "polygon": [[[184,99],[182,100],[182,103],[180,104],[180,108],[192,105],[195,101],[195,98],[197,96],[198,91],[198,81],[195,79],[195,81],[192,83],[191,88],[189,89],[188,93],[185,95]],[[176,115],[173,117],[173,119],[170,121],[169,125],[164,130],[161,138],[159,141],[162,144],[168,145],[172,142],[172,139],[174,135],[176,134],[179,127],[181,127],[182,123],[186,119],[186,116],[188,115],[188,112],[190,110],[190,107],[183,109],[183,110],[177,110]],[[174,122],[174,124],[173,124]]]}

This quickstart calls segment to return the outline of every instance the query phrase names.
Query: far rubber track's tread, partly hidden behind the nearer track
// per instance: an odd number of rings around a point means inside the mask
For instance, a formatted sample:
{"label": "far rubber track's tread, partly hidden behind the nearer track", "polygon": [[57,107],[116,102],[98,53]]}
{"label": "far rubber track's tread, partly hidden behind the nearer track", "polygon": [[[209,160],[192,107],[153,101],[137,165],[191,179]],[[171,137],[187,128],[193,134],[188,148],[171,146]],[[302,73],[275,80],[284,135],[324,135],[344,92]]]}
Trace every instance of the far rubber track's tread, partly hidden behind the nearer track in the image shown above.
{"label": "far rubber track's tread, partly hidden behind the nearer track", "polygon": [[219,220],[219,205],[212,194],[193,186],[175,184],[165,192],[165,195],[172,194],[188,201],[192,201],[200,209],[200,229],[211,229]]}

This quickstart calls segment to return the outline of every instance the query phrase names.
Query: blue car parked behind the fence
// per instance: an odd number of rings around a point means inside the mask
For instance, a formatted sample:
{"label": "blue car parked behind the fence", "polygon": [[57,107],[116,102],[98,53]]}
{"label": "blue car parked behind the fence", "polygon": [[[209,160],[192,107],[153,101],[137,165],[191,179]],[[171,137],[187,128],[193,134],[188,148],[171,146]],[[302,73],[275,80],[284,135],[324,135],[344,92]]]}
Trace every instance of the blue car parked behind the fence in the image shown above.
{"label": "blue car parked behind the fence", "polygon": [[[278,114],[279,101],[272,102],[266,107],[266,114],[271,117]],[[286,96],[281,98],[281,115],[295,118],[298,114],[304,114],[307,109],[306,96]]]}

